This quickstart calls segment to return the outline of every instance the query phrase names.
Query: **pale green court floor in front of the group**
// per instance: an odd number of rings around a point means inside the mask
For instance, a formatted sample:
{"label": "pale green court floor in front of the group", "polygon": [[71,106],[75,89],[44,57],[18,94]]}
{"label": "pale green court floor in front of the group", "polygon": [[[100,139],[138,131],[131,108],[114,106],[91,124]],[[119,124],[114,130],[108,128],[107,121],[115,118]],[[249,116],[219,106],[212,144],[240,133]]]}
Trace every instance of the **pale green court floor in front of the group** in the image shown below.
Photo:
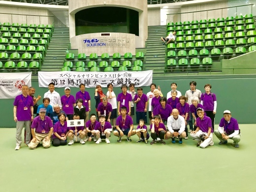
{"label": "pale green court floor in front of the group", "polygon": [[[217,125],[216,125],[217,128]],[[111,134],[110,144],[15,151],[15,128],[0,128],[1,192],[256,192],[255,125],[240,125],[240,148],[136,143]]]}

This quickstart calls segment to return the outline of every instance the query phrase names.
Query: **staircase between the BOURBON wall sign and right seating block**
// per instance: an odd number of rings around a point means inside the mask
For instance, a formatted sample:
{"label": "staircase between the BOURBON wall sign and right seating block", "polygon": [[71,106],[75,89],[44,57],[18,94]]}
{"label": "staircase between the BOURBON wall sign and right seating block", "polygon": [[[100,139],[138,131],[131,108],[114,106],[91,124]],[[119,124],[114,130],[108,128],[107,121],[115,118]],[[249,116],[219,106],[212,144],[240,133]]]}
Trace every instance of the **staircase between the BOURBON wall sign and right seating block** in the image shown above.
{"label": "staircase between the BOURBON wall sign and right seating block", "polygon": [[158,69],[154,74],[162,74],[165,68],[165,46],[160,37],[166,37],[166,26],[148,26],[148,39],[146,41],[146,70]]}

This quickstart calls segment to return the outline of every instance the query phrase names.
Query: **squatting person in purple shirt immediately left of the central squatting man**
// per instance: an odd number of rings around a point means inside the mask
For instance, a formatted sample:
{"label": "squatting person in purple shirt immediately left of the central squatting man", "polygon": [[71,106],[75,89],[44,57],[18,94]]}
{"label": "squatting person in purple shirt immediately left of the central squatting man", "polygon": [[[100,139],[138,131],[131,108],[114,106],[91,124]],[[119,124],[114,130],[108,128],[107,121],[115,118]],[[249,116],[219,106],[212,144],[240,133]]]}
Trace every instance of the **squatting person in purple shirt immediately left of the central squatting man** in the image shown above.
{"label": "squatting person in purple shirt immediately left of the central squatting man", "polygon": [[112,126],[109,122],[106,122],[106,116],[100,115],[99,122],[96,124],[92,133],[96,135],[97,141],[96,144],[101,142],[101,139],[105,139],[106,143],[110,143],[109,136],[110,132],[112,132]]}

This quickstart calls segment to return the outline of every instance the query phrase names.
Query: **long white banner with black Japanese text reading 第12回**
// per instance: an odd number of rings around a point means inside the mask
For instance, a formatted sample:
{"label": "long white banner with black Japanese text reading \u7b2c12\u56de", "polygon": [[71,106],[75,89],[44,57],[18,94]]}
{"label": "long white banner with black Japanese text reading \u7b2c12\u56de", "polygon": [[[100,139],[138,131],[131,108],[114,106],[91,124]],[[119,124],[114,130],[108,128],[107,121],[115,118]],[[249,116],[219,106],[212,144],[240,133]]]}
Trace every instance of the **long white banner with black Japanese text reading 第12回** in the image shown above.
{"label": "long white banner with black Japanese text reading \u7b2c12\u56de", "polygon": [[86,88],[95,88],[96,85],[107,87],[112,83],[114,87],[134,83],[135,87],[150,86],[152,83],[153,70],[147,71],[38,71],[39,87],[48,87],[49,83],[54,83],[55,87],[79,87],[81,83]]}

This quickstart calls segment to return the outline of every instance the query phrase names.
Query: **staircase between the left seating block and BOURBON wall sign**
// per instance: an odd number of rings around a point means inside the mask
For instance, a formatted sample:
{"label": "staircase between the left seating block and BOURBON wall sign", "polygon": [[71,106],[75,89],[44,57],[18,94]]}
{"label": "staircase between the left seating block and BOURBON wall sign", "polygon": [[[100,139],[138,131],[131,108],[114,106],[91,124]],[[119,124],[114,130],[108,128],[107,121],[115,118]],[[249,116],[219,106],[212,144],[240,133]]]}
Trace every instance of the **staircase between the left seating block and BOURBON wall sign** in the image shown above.
{"label": "staircase between the left seating block and BOURBON wall sign", "polygon": [[54,28],[41,71],[60,71],[69,43],[69,28]]}

